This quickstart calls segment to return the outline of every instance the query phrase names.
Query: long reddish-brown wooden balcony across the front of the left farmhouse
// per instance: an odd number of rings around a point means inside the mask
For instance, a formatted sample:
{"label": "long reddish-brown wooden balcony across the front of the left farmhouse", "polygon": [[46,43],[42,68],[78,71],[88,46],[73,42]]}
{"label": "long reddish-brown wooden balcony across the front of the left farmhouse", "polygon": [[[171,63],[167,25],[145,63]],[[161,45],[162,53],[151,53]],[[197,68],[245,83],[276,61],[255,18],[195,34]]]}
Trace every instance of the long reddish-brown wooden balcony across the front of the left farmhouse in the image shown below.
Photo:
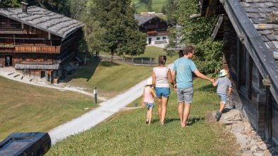
{"label": "long reddish-brown wooden balcony across the front of the left farmhouse", "polygon": [[0,46],[0,52],[11,53],[60,53],[60,46]]}

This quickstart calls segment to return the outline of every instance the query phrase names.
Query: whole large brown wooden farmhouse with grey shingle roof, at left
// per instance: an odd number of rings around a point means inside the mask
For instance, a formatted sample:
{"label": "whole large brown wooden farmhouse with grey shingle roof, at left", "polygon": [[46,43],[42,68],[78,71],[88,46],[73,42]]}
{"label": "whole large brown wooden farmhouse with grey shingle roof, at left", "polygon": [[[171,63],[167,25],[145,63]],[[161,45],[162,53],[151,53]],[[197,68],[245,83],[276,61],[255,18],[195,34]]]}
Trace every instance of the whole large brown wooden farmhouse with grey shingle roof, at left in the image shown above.
{"label": "whole large brown wooden farmhouse with grey shingle roof, at left", "polygon": [[49,82],[64,77],[83,23],[38,6],[0,8],[0,66]]}

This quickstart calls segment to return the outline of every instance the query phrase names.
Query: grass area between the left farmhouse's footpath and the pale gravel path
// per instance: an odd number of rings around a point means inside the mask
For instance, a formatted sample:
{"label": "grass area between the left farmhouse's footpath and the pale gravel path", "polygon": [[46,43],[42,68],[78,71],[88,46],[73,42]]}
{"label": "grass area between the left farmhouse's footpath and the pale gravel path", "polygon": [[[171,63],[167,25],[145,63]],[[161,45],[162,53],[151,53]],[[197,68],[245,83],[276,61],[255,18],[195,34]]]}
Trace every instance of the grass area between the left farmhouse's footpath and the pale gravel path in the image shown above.
{"label": "grass area between the left farmhouse's footpath and the pale gravel path", "polygon": [[49,131],[92,108],[92,97],[0,77],[0,141],[13,132]]}

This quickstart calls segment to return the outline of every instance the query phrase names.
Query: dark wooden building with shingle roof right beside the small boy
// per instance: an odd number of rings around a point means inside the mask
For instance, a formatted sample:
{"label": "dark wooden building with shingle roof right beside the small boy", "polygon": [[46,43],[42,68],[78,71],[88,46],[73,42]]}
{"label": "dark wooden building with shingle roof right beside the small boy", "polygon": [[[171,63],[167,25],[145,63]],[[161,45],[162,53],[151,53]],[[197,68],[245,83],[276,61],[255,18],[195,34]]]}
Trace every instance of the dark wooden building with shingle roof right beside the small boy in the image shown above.
{"label": "dark wooden building with shingle roof right beside the small boy", "polygon": [[265,141],[278,145],[278,0],[199,2],[203,17],[218,15],[211,37],[223,41],[230,103]]}

